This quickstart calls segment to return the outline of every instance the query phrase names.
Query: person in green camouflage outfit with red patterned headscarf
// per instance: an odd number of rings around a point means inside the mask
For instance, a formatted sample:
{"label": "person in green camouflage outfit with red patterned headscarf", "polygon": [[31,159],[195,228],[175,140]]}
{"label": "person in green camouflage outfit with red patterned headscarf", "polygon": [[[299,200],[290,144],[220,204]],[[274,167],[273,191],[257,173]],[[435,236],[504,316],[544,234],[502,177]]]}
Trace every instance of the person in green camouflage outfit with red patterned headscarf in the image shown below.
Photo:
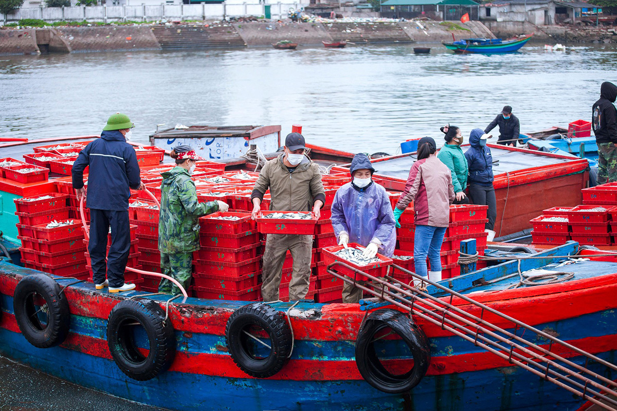
{"label": "person in green camouflage outfit with red patterned headscarf", "polygon": [[[185,289],[193,277],[193,251],[199,250],[199,217],[227,211],[223,201],[200,203],[191,174],[197,160],[204,160],[188,145],[179,145],[170,153],[176,166],[165,173],[161,183],[159,217],[160,267]],[[170,280],[161,280],[159,293],[176,295],[180,288]]]}

